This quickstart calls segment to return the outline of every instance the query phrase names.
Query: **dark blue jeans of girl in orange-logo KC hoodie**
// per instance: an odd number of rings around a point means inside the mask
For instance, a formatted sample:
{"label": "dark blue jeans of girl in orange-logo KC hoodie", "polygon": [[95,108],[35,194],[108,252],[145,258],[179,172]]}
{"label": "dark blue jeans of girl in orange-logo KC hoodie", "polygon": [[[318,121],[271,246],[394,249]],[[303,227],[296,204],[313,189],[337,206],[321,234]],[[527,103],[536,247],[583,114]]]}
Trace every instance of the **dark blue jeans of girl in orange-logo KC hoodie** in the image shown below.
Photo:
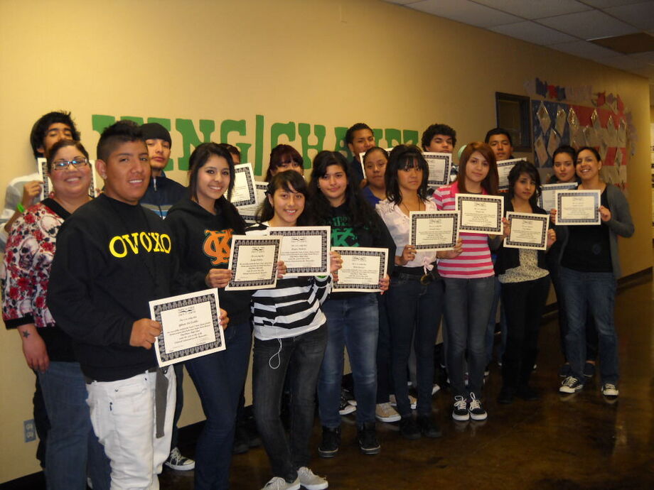
{"label": "dark blue jeans of girl in orange-logo KC hoodie", "polygon": [[195,490],[228,489],[238,398],[250,361],[249,323],[230,323],[227,349],[186,361],[207,420],[195,446]]}

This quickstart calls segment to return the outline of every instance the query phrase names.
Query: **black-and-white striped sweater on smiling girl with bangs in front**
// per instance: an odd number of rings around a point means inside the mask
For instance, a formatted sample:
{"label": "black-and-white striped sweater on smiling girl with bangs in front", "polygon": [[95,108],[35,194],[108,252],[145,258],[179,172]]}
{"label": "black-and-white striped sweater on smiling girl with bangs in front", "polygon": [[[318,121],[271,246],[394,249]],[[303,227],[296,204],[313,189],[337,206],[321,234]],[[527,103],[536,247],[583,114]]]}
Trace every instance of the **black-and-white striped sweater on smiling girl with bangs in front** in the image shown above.
{"label": "black-and-white striped sweater on smiling girl with bangs in front", "polygon": [[[267,222],[255,224],[246,234],[267,234]],[[277,280],[273,289],[257,290],[252,295],[254,337],[259,340],[296,337],[326,323],[321,305],[331,292],[331,276],[291,276]]]}

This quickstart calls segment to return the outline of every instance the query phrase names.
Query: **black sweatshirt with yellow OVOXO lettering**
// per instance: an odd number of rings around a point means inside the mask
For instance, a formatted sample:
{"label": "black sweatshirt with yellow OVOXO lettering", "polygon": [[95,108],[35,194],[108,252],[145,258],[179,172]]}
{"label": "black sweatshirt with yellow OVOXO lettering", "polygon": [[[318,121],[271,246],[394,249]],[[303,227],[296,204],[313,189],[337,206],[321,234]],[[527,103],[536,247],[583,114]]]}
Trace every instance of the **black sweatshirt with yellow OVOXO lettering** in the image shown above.
{"label": "black sweatshirt with yellow OVOXO lettering", "polygon": [[89,378],[117,381],[156,366],[154,350],[132,347],[129,338],[134,322],[150,317],[148,302],[171,295],[172,250],[156,214],[106,194],[60,228],[48,307]]}

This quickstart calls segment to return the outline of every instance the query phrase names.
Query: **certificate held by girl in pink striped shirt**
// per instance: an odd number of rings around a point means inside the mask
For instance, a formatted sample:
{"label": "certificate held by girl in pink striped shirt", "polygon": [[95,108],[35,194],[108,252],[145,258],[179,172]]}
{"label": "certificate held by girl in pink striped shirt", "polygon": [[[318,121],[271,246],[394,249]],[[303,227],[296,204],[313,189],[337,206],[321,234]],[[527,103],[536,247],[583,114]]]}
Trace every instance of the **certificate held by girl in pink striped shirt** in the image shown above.
{"label": "certificate held by girl in pink striped shirt", "polygon": [[457,194],[459,233],[502,234],[504,197],[479,194]]}

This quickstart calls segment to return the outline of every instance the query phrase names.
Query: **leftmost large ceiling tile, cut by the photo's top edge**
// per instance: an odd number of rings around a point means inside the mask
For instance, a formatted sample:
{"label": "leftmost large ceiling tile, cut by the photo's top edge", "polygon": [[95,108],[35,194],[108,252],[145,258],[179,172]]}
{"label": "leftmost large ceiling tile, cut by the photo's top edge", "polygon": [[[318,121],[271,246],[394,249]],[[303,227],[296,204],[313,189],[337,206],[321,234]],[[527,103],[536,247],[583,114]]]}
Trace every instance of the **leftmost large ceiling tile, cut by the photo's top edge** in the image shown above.
{"label": "leftmost large ceiling tile, cut by the photo's top edge", "polygon": [[493,27],[520,22],[523,19],[476,4],[468,0],[427,0],[408,5],[411,9],[433,13],[435,16],[451,18],[471,26]]}

